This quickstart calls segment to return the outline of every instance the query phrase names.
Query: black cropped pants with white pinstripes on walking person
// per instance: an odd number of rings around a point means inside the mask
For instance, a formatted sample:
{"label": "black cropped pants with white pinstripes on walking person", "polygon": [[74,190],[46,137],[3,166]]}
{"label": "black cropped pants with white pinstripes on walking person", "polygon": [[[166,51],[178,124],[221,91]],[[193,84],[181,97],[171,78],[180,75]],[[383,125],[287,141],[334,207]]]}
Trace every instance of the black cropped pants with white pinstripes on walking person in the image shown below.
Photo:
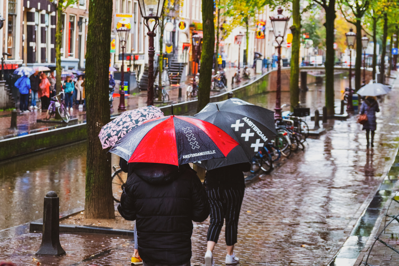
{"label": "black cropped pants with white pinstripes on walking person", "polygon": [[225,239],[227,246],[237,243],[238,219],[240,216],[242,189],[212,189],[206,193],[210,205],[210,225],[207,234],[207,241],[217,243],[224,219],[226,219]]}

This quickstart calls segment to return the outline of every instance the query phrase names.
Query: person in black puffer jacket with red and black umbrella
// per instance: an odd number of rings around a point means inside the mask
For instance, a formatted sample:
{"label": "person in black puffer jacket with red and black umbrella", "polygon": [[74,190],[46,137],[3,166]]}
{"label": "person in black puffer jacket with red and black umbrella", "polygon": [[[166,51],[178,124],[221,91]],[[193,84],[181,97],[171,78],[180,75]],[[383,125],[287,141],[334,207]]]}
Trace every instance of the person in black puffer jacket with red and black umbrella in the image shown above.
{"label": "person in black puffer jacket with red and black umbrella", "polygon": [[190,266],[192,221],[204,221],[209,210],[200,179],[188,163],[224,158],[237,145],[210,123],[172,115],[134,128],[110,150],[137,163],[118,211],[136,220],[144,266]]}

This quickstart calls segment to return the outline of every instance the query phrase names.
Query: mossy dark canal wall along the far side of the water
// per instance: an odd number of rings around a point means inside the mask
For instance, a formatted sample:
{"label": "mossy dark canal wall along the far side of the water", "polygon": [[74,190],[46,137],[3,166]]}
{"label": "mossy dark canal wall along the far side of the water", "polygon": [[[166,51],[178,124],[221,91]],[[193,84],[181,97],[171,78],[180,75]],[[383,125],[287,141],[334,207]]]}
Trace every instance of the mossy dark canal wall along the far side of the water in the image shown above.
{"label": "mossy dark canal wall along the far side of the water", "polygon": [[[341,68],[341,67],[340,67]],[[336,68],[336,70],[340,69]],[[301,71],[323,70],[324,67],[301,67]],[[233,97],[243,98],[246,96],[256,95],[268,91],[276,90],[277,83],[277,69],[268,71],[257,79],[246,83],[243,86],[232,89],[218,95],[210,97],[210,102],[223,101],[228,98],[230,92]],[[342,68],[339,75],[347,75],[348,69]],[[371,71],[367,71],[371,72]],[[371,76],[371,74],[370,74]],[[311,75],[309,75],[311,77]],[[312,78],[308,82],[315,82]],[[289,91],[290,83],[290,68],[283,67],[281,69],[281,89],[282,91]],[[186,115],[196,113],[198,100],[192,100],[182,103],[173,104],[173,113],[175,115]],[[160,107],[165,115],[172,114],[172,105]],[[0,140],[0,161],[8,160],[17,156],[26,155],[36,151],[48,148],[55,148],[65,144],[78,142],[87,138],[86,123],[71,125],[56,129],[51,129],[43,132],[27,134],[23,136],[8,138]]]}

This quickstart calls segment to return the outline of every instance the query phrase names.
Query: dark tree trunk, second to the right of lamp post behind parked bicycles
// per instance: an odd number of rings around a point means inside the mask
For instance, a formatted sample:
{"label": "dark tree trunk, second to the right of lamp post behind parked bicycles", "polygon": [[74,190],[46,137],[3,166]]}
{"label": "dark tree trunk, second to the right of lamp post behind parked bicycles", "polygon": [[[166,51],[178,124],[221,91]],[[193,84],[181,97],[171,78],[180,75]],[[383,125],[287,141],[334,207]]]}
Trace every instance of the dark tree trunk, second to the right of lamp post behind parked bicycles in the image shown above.
{"label": "dark tree trunk, second to the right of lamp post behind parked bicycles", "polygon": [[326,107],[327,114],[334,115],[334,20],[335,20],[335,0],[330,0],[326,8]]}

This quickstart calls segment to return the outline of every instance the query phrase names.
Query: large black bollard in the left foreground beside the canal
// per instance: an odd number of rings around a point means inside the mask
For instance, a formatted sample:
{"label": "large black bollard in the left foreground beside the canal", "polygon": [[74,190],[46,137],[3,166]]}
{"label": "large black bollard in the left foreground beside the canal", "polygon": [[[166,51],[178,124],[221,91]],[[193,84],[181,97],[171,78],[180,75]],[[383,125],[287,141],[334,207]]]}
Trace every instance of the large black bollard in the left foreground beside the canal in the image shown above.
{"label": "large black bollard in the left foreground beside the canal", "polygon": [[59,256],[65,254],[59,243],[59,198],[54,191],[44,197],[43,233],[36,255]]}

